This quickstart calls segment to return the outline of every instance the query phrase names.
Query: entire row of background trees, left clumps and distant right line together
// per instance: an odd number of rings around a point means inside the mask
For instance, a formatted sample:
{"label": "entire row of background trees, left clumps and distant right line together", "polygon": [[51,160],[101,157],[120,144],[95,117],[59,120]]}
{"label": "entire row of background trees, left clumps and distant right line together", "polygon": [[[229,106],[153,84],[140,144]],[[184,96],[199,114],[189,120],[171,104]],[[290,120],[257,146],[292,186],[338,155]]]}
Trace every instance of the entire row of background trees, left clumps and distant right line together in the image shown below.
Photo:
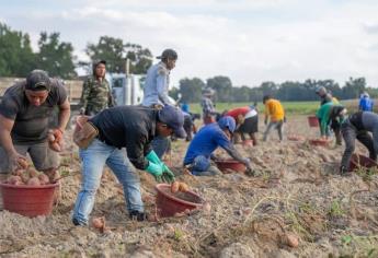
{"label": "entire row of background trees, left clumps and distant right line together", "polygon": [[[138,44],[127,43],[121,38],[101,36],[98,43],[88,43],[85,52],[90,61],[78,60],[73,55],[71,43],[62,42],[57,32],[42,32],[38,50],[34,51],[27,33],[14,31],[0,23],[0,77],[26,77],[31,70],[43,69],[51,77],[61,79],[77,78],[77,68],[91,73],[94,60],[106,60],[108,72],[125,72],[125,60],[129,59],[129,71],[146,74],[152,64],[152,52]],[[314,101],[318,86],[325,86],[340,99],[356,98],[363,91],[371,97],[378,97],[378,90],[366,85],[365,78],[350,78],[343,85],[333,80],[311,80],[305,82],[286,81],[283,83],[263,82],[259,86],[233,85],[230,78],[216,75],[203,81],[199,78],[184,78],[170,94],[182,102],[195,103],[202,98],[202,91],[214,89],[217,102],[261,102],[270,94],[280,101]]]}

